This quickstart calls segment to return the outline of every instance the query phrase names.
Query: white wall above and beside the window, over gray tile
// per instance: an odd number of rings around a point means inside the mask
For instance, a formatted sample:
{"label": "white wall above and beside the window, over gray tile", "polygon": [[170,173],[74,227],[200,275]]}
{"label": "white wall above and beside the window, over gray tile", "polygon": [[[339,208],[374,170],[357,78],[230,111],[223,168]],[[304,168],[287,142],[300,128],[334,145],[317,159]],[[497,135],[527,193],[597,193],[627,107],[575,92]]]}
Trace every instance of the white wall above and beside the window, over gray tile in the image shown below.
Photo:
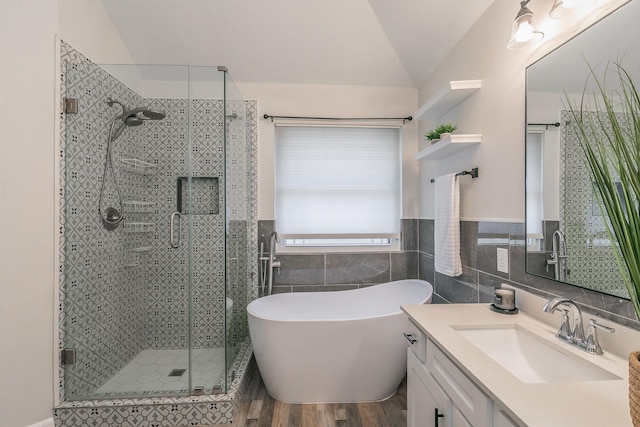
{"label": "white wall above and beside the window, over gray tile", "polygon": [[[233,70],[229,70],[233,77]],[[418,105],[414,88],[236,83],[245,99],[258,100],[258,219],[274,219],[274,124],[263,114],[321,117],[406,117]],[[388,124],[401,122],[388,122]],[[402,127],[403,217],[418,215],[417,124]]]}

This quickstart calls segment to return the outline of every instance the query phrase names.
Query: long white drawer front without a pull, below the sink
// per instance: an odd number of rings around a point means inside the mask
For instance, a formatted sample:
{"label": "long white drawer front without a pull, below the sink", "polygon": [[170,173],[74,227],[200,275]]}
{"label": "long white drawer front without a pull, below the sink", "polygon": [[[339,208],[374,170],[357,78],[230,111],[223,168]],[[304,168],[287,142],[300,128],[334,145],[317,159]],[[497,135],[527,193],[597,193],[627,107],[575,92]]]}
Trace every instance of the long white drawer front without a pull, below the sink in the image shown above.
{"label": "long white drawer front without a pull, below the sink", "polygon": [[427,340],[427,369],[471,425],[493,423],[492,401],[431,341]]}

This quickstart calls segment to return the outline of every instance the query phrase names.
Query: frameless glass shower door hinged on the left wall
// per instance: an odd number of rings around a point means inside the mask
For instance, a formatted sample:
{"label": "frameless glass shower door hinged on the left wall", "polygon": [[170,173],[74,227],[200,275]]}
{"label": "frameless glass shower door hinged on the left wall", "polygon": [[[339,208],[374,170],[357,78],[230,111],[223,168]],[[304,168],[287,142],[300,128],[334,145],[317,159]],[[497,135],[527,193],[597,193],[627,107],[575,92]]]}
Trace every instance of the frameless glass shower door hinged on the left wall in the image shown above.
{"label": "frameless glass shower door hinged on the left wall", "polygon": [[[62,94],[78,105],[61,141],[64,398],[187,393],[189,252],[169,250],[166,211],[169,165],[189,173],[188,111],[178,111],[188,102],[146,97],[151,69],[102,67],[64,48]],[[187,81],[186,67],[171,73]]]}

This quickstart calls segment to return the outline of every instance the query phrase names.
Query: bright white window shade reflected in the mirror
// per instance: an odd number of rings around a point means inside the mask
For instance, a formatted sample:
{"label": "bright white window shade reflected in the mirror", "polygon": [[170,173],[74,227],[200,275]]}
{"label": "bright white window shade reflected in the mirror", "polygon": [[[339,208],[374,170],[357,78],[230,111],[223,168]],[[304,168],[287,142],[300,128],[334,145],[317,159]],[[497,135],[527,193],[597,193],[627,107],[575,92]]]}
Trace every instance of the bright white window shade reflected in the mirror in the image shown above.
{"label": "bright white window shade reflected in the mirror", "polygon": [[528,132],[526,143],[527,167],[527,236],[541,239],[542,234],[542,143],[543,134]]}

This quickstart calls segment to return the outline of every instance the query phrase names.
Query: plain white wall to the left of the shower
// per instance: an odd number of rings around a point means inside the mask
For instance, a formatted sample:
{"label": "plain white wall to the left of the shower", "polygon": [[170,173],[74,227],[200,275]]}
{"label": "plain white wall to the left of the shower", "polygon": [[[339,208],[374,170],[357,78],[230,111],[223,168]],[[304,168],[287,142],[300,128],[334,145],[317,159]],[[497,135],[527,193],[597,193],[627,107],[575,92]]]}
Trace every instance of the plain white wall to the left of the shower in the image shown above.
{"label": "plain white wall to the left of the shower", "polygon": [[57,6],[0,2],[0,425],[51,417]]}

